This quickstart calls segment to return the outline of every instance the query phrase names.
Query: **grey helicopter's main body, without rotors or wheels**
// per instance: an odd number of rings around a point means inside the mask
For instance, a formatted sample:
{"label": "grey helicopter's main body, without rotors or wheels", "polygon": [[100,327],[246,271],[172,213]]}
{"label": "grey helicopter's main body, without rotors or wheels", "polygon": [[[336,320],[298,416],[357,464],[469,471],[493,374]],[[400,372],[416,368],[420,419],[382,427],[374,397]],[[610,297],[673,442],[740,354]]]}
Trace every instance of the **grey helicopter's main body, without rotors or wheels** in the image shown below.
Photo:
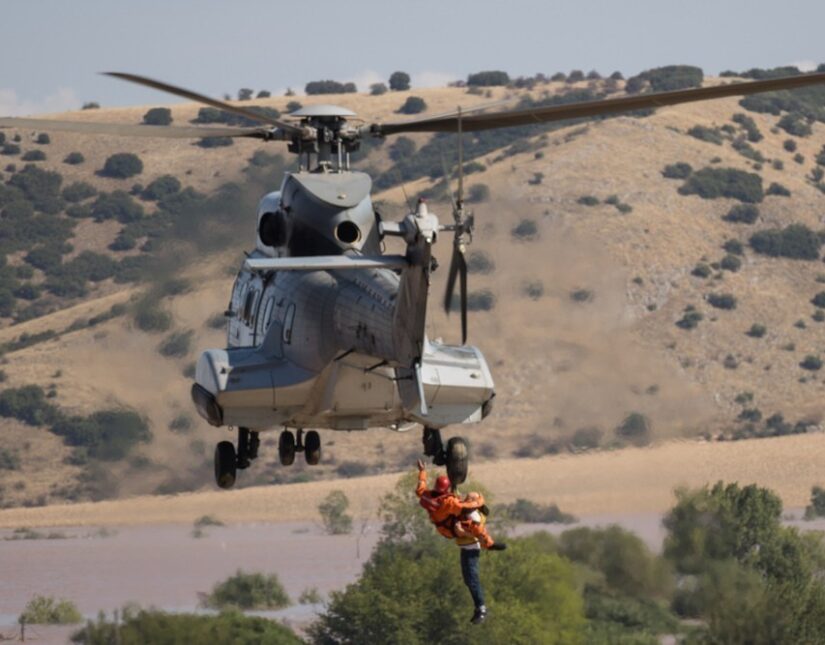
{"label": "grey helicopter's main body, without rotors or wheels", "polygon": [[[489,412],[493,380],[477,348],[431,342],[422,328],[411,350],[399,334],[413,318],[423,327],[426,290],[403,284],[414,268],[279,270],[286,258],[389,257],[369,188],[360,173],[294,173],[261,200],[256,249],[226,312],[227,347],[205,351],[197,364],[193,398],[211,424],[440,428]],[[418,267],[427,282],[429,264],[427,255]]]}

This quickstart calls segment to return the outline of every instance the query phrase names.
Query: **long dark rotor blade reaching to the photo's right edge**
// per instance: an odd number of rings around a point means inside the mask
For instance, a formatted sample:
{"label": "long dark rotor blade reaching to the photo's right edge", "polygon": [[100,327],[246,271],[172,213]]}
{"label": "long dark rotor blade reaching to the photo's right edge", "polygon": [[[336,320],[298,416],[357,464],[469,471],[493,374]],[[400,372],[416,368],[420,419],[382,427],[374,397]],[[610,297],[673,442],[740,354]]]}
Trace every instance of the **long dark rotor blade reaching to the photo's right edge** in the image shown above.
{"label": "long dark rotor blade reaching to the photo's right edge", "polygon": [[[524,110],[509,110],[493,112],[492,114],[462,115],[461,128],[465,132],[490,130],[493,128],[511,128],[532,123],[549,123],[565,121],[589,116],[629,112],[644,108],[657,108],[667,105],[678,105],[693,101],[708,101],[728,96],[743,96],[759,92],[775,90],[790,90],[807,85],[825,83],[825,72],[815,74],[801,74],[784,78],[773,78],[763,81],[747,83],[730,83],[715,87],[698,87],[673,92],[656,92],[653,94],[636,94],[600,101],[585,101],[566,105],[550,105],[546,107],[528,108]],[[377,135],[397,134],[400,132],[455,132],[458,127],[458,116],[447,118],[419,119],[401,123],[376,123],[370,126],[370,131]]]}

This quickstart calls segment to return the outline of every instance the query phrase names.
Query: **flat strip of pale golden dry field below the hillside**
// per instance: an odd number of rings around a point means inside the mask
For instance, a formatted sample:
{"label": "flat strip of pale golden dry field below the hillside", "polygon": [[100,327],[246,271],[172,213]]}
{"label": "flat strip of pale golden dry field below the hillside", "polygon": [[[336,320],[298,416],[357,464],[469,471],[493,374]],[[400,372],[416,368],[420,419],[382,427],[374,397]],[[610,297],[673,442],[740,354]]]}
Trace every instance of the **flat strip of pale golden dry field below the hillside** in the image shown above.
{"label": "flat strip of pale golden dry field below the hillside", "polygon": [[[808,502],[823,482],[825,434],[729,443],[674,441],[650,448],[478,464],[471,477],[498,502],[526,497],[555,502],[578,516],[656,513],[667,510],[678,486],[717,480],[758,483],[776,491],[786,508]],[[235,491],[134,497],[117,501],[0,511],[0,527],[113,526],[191,523],[211,514],[224,522],[317,520],[318,503],[343,490],[353,514],[374,518],[378,501],[398,474],[262,486]]]}

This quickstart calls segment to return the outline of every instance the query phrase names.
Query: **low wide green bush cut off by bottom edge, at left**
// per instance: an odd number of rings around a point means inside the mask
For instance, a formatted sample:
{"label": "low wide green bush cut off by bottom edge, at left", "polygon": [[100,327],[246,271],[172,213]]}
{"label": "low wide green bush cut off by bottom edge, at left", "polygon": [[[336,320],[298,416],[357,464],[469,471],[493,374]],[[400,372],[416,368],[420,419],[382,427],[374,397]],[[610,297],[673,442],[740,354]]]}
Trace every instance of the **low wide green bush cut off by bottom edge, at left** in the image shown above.
{"label": "low wide green bush cut off by bottom edge, at left", "polygon": [[234,611],[216,616],[167,614],[157,609],[124,609],[122,619],[107,622],[103,614],[72,636],[75,643],[267,643],[300,645],[288,627],[269,618]]}

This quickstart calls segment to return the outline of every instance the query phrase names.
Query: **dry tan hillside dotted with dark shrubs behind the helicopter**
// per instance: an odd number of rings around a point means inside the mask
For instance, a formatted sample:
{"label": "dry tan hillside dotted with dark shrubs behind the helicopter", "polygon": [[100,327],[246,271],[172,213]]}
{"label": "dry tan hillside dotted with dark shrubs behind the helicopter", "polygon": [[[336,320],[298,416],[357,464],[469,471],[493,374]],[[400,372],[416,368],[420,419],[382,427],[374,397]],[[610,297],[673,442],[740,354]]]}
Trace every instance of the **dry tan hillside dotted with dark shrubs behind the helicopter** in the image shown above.
{"label": "dry tan hillside dotted with dark shrubs behind the helicopter", "polygon": [[[577,87],[584,90],[585,83]],[[400,118],[389,113],[410,94],[425,99],[428,113],[438,113],[457,104],[471,107],[569,89],[564,83],[549,83],[532,93],[491,88],[489,96],[440,88],[298,100],[342,104],[370,121]],[[284,111],[290,100],[281,97],[251,104]],[[137,123],[150,107],[54,116]],[[173,106],[174,122],[195,118],[198,109]],[[736,113],[753,119],[762,136],[750,144],[751,151],[739,140],[747,128],[732,121]],[[813,317],[818,308],[811,304],[825,289],[819,283],[825,280],[825,267],[813,260],[760,255],[748,244],[759,230],[790,224],[805,224],[814,232],[822,228],[825,193],[816,185],[819,180],[811,178],[825,144],[825,124],[813,122],[810,134],[791,136],[777,128],[779,119],[746,112],[737,99],[724,99],[661,109],[645,118],[624,116],[570,125],[521,139],[513,147],[507,142],[506,148],[492,149],[475,160],[480,165],[468,176],[468,184],[486,185],[491,198],[473,205],[477,231],[471,248],[483,255],[476,255],[471,263],[477,270],[470,276],[470,287],[482,310],[471,315],[470,341],[485,352],[497,384],[493,416],[464,432],[473,441],[476,459],[539,456],[566,451],[571,443],[576,449],[616,443],[622,437],[614,429],[631,413],[651,422],[650,433],[644,428],[641,437],[630,437],[642,441],[721,432],[783,433],[792,431],[797,422],[802,422],[797,429],[819,425],[823,379],[818,369],[806,370],[800,363],[807,355],[817,357],[825,351],[825,325],[816,319],[819,315]],[[697,125],[715,132],[716,136],[705,136],[718,143],[687,134]],[[223,345],[215,315],[225,308],[241,250],[254,240],[252,204],[264,190],[259,179],[268,172],[277,174],[280,166],[264,164],[255,173],[244,169],[258,149],[281,152],[278,144],[236,141],[230,148],[203,149],[191,142],[56,133],[50,143],[41,145],[30,142],[31,135],[21,133],[23,152],[45,151],[46,160],[36,165],[59,171],[64,187],[83,181],[98,191],[129,191],[135,183],[145,187],[169,174],[204,194],[227,181],[239,182],[245,192],[233,202],[237,212],[223,212],[217,218],[224,228],[216,229],[220,235],[212,237],[209,231],[194,229],[168,239],[163,237],[166,233],[158,238],[144,234],[131,249],[111,250],[109,245],[125,227],[131,226],[135,234],[157,233],[151,222],[157,214],[163,215],[163,203],[140,198],[135,201],[144,207],[145,215],[138,224],[144,228],[117,217],[77,219],[66,240],[73,248],[64,249],[61,266],[82,251],[92,251],[113,258],[118,267],[124,266],[124,257],[145,258],[143,273],[139,280],[126,279],[129,274],[120,279],[125,271],[115,268],[112,277],[90,280],[85,293],[44,292],[42,311],[54,311],[28,320],[17,313],[22,309],[18,299],[0,329],[0,343],[6,344],[3,387],[40,385],[48,401],[67,414],[91,415],[120,407],[135,410],[145,416],[152,440],[139,442],[127,458],[82,459],[46,425],[1,419],[4,450],[12,465],[0,470],[2,503],[42,504],[211,486],[212,447],[223,434],[192,411],[190,381],[184,374],[198,351]],[[427,135],[410,139],[419,151],[426,150],[430,141]],[[471,149],[473,139],[468,137]],[[788,140],[795,143],[795,150],[786,148]],[[390,140],[368,146],[360,167],[391,178],[387,171],[393,166],[392,145]],[[451,140],[444,145],[449,154]],[[62,163],[73,151],[82,152],[86,161]],[[753,151],[764,160],[755,160]],[[143,171],[127,179],[95,174],[118,152],[137,154]],[[794,160],[797,155],[803,157],[802,163]],[[3,173],[6,181],[23,166],[13,156],[8,159],[17,168]],[[765,189],[781,184],[790,197],[765,196],[758,203],[754,224],[725,221],[723,216],[739,200],[680,194],[677,189],[685,180],[662,175],[665,166],[675,163],[689,164],[694,174],[706,167],[757,173]],[[273,176],[268,189],[276,188],[278,181]],[[433,180],[427,177],[410,178],[405,186],[410,196],[433,188]],[[435,189],[437,196],[439,189]],[[616,199],[611,198],[614,195]],[[400,188],[391,187],[375,198],[385,215],[403,214]],[[625,204],[631,209],[618,208]],[[432,208],[442,217],[449,216],[444,205]],[[70,219],[60,214],[49,217]],[[197,228],[211,222],[187,217],[185,221]],[[174,228],[174,220],[169,228]],[[226,236],[227,230],[234,239]],[[186,231],[213,252],[198,251]],[[220,249],[216,237],[225,248]],[[146,247],[152,239],[165,240],[163,248]],[[729,244],[728,252],[722,249],[728,240],[741,242],[741,256],[735,245]],[[29,250],[7,253],[8,266],[21,276],[26,270],[16,267],[31,265],[25,259]],[[448,252],[448,246],[437,251],[442,265]],[[713,266],[726,255],[739,257],[741,266],[737,270]],[[709,265],[707,277],[692,275],[697,264]],[[447,320],[438,307],[444,273],[435,276],[428,331],[432,337],[455,339],[458,321]],[[170,275],[177,276],[177,287],[170,286]],[[49,279],[36,268],[26,280],[36,286],[48,284]],[[143,306],[141,294],[150,288],[153,306],[160,303],[172,314],[171,327],[162,332],[142,331],[133,315]],[[714,307],[709,294],[733,295],[735,308]],[[695,328],[684,329],[676,322],[684,319],[689,306],[702,319]],[[96,316],[100,319],[89,324]],[[754,324],[764,326],[761,335],[746,334]],[[193,333],[180,356],[158,352],[170,334],[187,330]],[[29,335],[30,345],[8,345],[23,334]],[[32,342],[32,337],[43,340]],[[743,410],[746,419],[737,420]],[[766,426],[775,413],[783,419],[774,418]],[[321,467],[286,470],[275,464],[276,441],[276,433],[265,440],[262,459],[242,474],[241,484],[395,470],[414,460],[420,445],[417,431],[407,436],[388,431],[327,433]]]}

